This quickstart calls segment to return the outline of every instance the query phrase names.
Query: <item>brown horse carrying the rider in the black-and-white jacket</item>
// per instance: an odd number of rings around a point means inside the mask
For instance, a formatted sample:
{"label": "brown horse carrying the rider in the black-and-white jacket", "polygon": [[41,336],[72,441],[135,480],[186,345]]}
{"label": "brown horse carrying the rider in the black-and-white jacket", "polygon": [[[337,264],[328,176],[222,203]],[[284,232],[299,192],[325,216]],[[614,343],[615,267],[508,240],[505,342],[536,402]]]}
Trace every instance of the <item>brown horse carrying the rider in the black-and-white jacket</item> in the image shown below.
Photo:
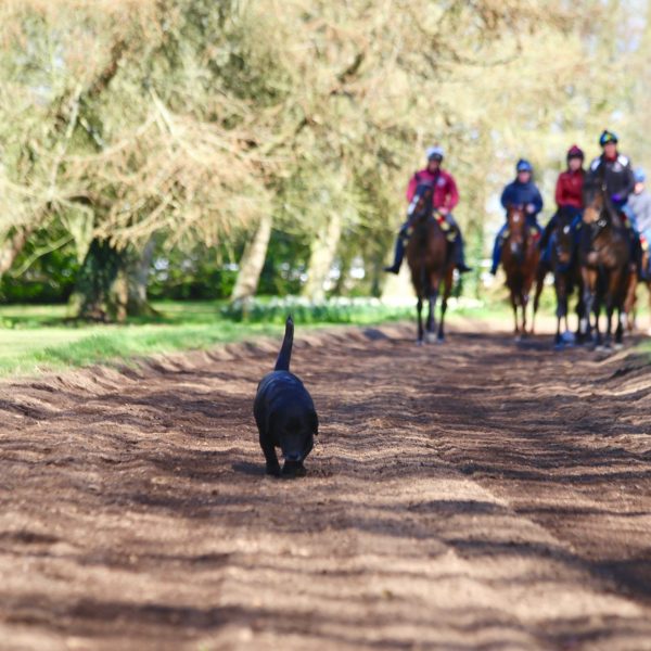
{"label": "brown horse carrying the rider in the black-and-white jacket", "polygon": [[[622,345],[624,321],[626,320],[626,294],[630,280],[630,239],[618,210],[608,195],[603,175],[598,179],[587,179],[584,186],[584,209],[579,246],[580,276],[584,295],[584,315],[580,320],[580,334],[592,340],[595,329],[596,345],[604,342],[599,330],[602,303],[605,304],[605,345],[612,340],[612,317],[617,311],[615,345]],[[595,324],[590,315],[595,316]]]}

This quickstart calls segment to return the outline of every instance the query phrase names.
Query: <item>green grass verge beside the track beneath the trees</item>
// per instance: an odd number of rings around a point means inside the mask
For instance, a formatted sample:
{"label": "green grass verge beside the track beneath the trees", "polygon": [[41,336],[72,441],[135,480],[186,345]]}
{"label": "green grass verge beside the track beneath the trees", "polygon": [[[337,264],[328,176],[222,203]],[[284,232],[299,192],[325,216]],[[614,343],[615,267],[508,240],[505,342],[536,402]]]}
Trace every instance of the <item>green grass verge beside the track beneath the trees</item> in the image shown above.
{"label": "green grass verge beside the track beneath the trees", "polygon": [[[497,298],[497,297],[494,297]],[[332,324],[372,326],[413,319],[413,302],[386,305],[375,299],[263,298],[246,307],[219,302],[159,302],[155,317],[130,319],[124,326],[67,320],[66,306],[0,306],[0,376],[31,375],[135,357],[218,344],[280,336],[288,314],[301,329]],[[510,320],[506,302],[452,304],[451,315]],[[651,344],[642,349],[651,354]]]}

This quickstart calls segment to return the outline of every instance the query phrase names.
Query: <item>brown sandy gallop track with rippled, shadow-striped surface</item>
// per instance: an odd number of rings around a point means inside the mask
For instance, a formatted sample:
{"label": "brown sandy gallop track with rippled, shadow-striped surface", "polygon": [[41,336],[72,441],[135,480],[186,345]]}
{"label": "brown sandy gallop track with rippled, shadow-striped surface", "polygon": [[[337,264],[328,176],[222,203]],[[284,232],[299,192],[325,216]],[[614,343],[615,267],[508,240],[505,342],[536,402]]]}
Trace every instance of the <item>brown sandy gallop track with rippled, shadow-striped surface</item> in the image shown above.
{"label": "brown sandy gallop track with rippled, shadow-striped surface", "polygon": [[276,342],[1,388],[1,649],[651,649],[641,359],[297,337],[305,480],[263,474]]}

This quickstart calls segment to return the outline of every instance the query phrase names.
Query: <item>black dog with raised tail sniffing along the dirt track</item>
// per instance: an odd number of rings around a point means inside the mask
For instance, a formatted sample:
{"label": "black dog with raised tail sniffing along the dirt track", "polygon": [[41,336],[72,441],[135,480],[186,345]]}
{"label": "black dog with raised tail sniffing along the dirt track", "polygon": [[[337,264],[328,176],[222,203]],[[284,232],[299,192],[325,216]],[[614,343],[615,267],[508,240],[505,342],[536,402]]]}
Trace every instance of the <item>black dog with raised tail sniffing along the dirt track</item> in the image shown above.
{"label": "black dog with raised tail sniffing along the dirt track", "polygon": [[276,368],[258,384],[253,404],[267,473],[276,476],[281,474],[276,448],[281,449],[285,460],[283,475],[304,475],[303,461],[312,449],[315,434],[319,433],[315,404],[303,382],[290,373],[293,342],[294,322],[292,317],[288,317]]}

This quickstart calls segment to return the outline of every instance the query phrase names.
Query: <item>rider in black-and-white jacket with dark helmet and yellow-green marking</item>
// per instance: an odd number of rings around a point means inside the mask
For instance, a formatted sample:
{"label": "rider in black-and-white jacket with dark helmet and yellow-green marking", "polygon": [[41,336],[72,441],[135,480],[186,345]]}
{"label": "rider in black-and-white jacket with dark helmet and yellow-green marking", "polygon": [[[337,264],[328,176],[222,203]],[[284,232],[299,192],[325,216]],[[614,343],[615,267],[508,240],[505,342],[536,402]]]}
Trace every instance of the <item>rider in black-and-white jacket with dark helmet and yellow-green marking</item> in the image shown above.
{"label": "rider in black-and-white jacket with dark helmet and yellow-green marking", "polygon": [[605,129],[600,138],[599,144],[603,152],[590,164],[590,178],[596,179],[603,175],[605,190],[613,206],[624,215],[631,230],[630,246],[633,260],[639,264],[640,243],[637,231],[635,215],[628,205],[628,197],[635,190],[635,176],[630,161],[617,151],[617,136]]}

